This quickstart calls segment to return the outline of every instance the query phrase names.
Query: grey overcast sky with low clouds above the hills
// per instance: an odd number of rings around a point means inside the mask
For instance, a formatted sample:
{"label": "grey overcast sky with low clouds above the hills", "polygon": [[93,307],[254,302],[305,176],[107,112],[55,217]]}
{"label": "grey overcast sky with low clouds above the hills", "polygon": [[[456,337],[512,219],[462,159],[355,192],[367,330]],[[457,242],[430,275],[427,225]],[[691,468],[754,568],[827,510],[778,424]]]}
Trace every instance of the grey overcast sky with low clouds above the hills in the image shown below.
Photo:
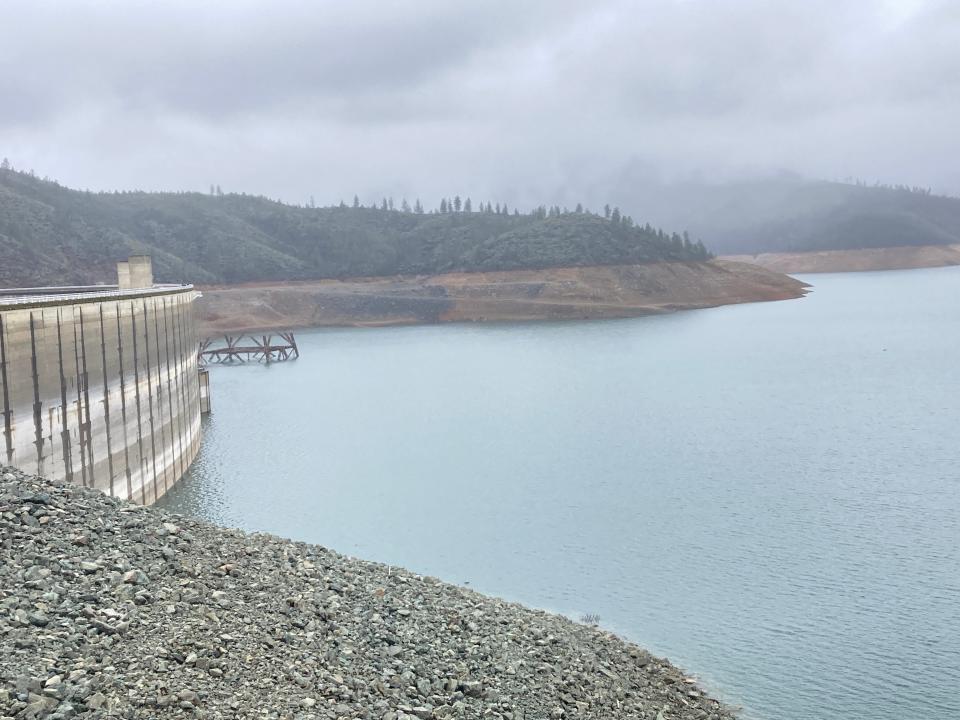
{"label": "grey overcast sky with low clouds above the hills", "polygon": [[957,0],[3,0],[0,28],[0,156],[75,187],[526,205],[629,167],[960,194]]}

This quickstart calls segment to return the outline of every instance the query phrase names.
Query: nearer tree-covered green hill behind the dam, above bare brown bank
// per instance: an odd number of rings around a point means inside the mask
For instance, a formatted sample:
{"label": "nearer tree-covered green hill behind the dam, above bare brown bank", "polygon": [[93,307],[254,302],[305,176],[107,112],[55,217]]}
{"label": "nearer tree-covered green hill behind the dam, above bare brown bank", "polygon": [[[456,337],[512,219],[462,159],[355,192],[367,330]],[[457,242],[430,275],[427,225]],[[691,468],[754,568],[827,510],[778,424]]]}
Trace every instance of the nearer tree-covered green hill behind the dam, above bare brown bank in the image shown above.
{"label": "nearer tree-covered green hill behind the dam, above bare brown bank", "polygon": [[108,281],[153,256],[159,280],[237,283],[703,260],[685,236],[618,211],[486,204],[307,208],[261,197],[91,193],[0,169],[0,286]]}

